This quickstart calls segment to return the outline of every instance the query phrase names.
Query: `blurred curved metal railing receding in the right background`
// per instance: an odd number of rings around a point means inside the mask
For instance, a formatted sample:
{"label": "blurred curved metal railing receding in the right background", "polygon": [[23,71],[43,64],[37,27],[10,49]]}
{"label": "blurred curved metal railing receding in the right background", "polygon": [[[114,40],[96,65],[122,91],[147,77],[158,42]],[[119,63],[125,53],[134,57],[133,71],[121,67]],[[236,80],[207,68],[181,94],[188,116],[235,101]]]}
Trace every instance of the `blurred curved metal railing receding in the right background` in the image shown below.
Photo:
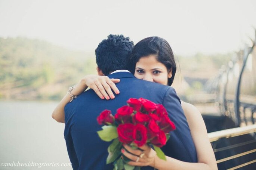
{"label": "blurred curved metal railing receding in the right background", "polygon": [[[255,124],[256,122],[256,103],[255,98],[250,101],[244,101],[244,97],[241,92],[246,89],[246,87],[241,87],[242,79],[248,77],[246,74],[246,64],[249,58],[249,55],[254,55],[253,60],[255,60],[255,46],[256,46],[256,29],[255,29],[255,38],[251,39],[252,46],[246,45],[243,50],[236,52],[232,61],[229,61],[226,67],[222,67],[219,70],[219,74],[209,80],[206,84],[206,90],[209,93],[216,94],[215,101],[219,104],[220,112],[223,115],[228,116],[235,122],[235,126],[243,126],[244,124],[248,125],[250,122]],[[235,65],[239,65],[235,67]],[[253,65],[255,68],[255,65]],[[240,69],[241,67],[241,69]],[[239,69],[238,77],[234,77],[234,72],[236,69]],[[232,78],[234,77],[234,80]],[[251,77],[255,77],[255,74],[252,72]],[[231,80],[229,80],[231,77]],[[236,79],[237,78],[237,79]],[[251,78],[252,79],[252,78]],[[234,89],[230,89],[230,87]],[[234,90],[234,91],[233,91]],[[255,90],[251,89],[251,96],[255,95]],[[232,97],[229,97],[229,95]]]}

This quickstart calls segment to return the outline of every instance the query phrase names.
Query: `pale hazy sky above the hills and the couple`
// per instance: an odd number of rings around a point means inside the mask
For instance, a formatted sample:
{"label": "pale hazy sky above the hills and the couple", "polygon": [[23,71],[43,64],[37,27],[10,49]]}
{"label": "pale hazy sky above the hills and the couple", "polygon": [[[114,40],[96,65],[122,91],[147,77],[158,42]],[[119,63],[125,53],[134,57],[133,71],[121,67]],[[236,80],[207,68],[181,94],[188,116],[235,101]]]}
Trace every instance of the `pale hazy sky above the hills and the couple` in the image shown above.
{"label": "pale hazy sky above the hills and the couple", "polygon": [[165,38],[175,54],[236,51],[254,37],[255,0],[0,0],[0,36],[94,50],[107,35]]}

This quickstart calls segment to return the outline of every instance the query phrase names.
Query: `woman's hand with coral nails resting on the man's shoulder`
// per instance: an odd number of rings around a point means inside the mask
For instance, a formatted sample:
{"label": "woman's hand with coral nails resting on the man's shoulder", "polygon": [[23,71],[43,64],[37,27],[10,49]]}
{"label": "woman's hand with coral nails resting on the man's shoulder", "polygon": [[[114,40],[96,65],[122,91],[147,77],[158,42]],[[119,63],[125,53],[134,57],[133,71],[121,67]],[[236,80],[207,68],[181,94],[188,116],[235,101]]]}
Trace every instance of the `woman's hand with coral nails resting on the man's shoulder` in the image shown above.
{"label": "woman's hand with coral nails resting on the man's shoulder", "polygon": [[84,84],[93,89],[101,99],[114,99],[115,96],[112,90],[115,94],[120,93],[117,86],[115,86],[115,83],[120,82],[120,79],[108,78],[108,76],[87,75],[84,76],[82,80]]}

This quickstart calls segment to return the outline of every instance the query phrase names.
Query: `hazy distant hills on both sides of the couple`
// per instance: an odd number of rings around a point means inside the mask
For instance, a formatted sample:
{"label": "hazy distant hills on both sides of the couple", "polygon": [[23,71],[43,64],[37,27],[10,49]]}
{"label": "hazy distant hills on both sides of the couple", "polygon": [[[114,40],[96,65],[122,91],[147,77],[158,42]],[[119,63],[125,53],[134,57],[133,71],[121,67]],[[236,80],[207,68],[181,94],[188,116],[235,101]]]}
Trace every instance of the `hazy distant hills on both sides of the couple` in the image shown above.
{"label": "hazy distant hills on both sides of the couple", "polygon": [[[232,53],[177,55],[174,84],[179,88],[183,77],[214,77],[231,57]],[[0,99],[60,100],[86,74],[96,74],[94,51],[74,51],[39,39],[0,37]],[[190,94],[193,89],[202,89],[200,81],[187,83],[180,94]]]}

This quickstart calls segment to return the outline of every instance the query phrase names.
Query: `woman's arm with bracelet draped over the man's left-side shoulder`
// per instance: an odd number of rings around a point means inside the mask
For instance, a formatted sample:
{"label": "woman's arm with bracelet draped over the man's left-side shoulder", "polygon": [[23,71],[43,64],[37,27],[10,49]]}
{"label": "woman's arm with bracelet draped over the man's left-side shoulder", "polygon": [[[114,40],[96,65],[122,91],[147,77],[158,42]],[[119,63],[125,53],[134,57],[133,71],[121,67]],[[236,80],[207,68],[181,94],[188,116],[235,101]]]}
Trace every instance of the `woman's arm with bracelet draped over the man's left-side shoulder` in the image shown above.
{"label": "woman's arm with bracelet draped over the man's left-side shoulder", "polygon": [[[114,90],[115,94],[119,93],[119,90],[115,86],[115,83],[118,83],[119,81],[120,79],[110,79],[107,76],[87,75],[75,85],[74,89],[72,90],[72,94],[74,96],[78,96],[79,94],[83,93],[87,87],[90,87],[99,97],[101,97],[101,99],[114,99],[115,96],[112,93],[112,90]],[[65,123],[64,107],[68,102],[70,102],[70,99],[70,95],[66,94],[53,110],[52,118],[57,122]]]}

